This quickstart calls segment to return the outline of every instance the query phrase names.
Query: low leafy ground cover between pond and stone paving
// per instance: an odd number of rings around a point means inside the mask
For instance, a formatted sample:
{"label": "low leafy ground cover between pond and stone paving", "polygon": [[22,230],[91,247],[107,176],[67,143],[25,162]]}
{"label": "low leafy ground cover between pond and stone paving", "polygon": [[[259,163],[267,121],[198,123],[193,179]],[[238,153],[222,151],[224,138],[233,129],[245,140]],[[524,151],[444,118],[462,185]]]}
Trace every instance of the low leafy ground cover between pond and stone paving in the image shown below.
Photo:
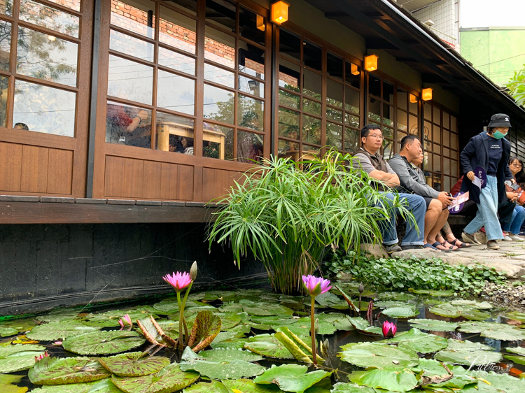
{"label": "low leafy ground cover between pond and stone paving", "polygon": [[342,272],[378,289],[451,290],[460,294],[479,294],[490,283],[505,283],[505,276],[482,265],[451,266],[437,258],[376,258],[358,252],[335,250],[323,263],[328,276]]}

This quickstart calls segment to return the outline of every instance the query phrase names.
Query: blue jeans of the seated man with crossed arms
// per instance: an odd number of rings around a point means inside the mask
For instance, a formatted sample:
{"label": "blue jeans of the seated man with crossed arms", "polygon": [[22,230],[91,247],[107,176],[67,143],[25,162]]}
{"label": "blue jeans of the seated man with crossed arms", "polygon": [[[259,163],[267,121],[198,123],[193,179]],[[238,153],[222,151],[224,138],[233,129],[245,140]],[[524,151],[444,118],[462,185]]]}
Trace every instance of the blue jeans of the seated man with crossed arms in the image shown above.
{"label": "blue jeans of the seated man with crossed arms", "polygon": [[[393,201],[393,194],[391,192],[381,192],[387,198],[387,201]],[[407,231],[401,245],[423,245],[424,243],[424,230],[425,230],[425,214],[426,214],[426,203],[425,200],[419,195],[413,194],[399,194],[401,201],[407,201],[406,206],[408,210],[412,212],[416,220],[417,228],[414,224],[407,222]],[[388,202],[386,202],[388,203]],[[390,204],[390,206],[392,206]],[[395,219],[397,215],[391,215],[390,220],[379,222],[379,228],[381,229],[381,235],[383,236],[384,245],[393,245],[398,243],[398,234],[395,229]]]}

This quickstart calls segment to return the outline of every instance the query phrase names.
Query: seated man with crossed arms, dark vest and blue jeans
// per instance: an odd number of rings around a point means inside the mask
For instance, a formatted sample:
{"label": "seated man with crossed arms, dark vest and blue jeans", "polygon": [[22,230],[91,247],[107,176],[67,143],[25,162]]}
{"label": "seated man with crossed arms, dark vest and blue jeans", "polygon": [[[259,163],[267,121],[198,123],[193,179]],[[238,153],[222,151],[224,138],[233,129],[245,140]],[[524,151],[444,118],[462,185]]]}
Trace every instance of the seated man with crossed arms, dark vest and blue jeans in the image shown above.
{"label": "seated man with crossed arms, dark vest and blue jeans", "polygon": [[[399,178],[391,169],[390,165],[379,155],[379,149],[383,144],[384,136],[377,124],[368,124],[361,129],[361,147],[353,156],[353,167],[363,169],[371,178],[381,180],[387,186],[398,187]],[[386,192],[386,197],[393,200],[393,194],[385,190],[383,185],[377,185],[378,190]],[[390,220],[380,222],[383,245],[386,252],[408,250],[411,248],[423,248],[423,231],[426,213],[425,200],[419,195],[399,194],[401,201],[406,201],[407,208],[412,211],[416,220],[417,229],[412,222],[407,222],[407,231],[401,247],[398,245],[398,235],[395,229],[395,215]]]}

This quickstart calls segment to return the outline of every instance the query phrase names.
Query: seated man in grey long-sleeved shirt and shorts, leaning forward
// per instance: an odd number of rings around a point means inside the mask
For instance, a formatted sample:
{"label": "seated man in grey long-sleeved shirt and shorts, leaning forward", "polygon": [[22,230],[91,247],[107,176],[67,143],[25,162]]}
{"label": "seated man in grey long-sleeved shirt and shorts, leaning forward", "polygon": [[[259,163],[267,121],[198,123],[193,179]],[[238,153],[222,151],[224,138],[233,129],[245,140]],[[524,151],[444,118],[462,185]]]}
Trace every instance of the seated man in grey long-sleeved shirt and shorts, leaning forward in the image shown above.
{"label": "seated man in grey long-sleeved shirt and shorts, leaning forward", "polygon": [[400,181],[400,192],[409,192],[420,195],[425,199],[425,243],[433,247],[448,251],[444,245],[435,240],[435,236],[447,222],[449,217],[449,206],[454,200],[449,197],[447,192],[438,192],[425,182],[425,178],[419,173],[419,168],[411,162],[422,153],[421,141],[413,134],[409,134],[401,139],[400,152],[394,155],[389,161],[393,171],[398,175]]}

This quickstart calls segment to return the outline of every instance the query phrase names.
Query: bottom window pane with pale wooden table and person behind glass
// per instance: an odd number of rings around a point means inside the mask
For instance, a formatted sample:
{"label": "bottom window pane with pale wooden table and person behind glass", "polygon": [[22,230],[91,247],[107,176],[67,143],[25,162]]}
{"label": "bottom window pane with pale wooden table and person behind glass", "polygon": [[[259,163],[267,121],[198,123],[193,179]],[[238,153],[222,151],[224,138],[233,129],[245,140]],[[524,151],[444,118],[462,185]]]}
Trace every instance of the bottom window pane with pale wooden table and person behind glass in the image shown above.
{"label": "bottom window pane with pale wooden table and person behind glass", "polygon": [[157,150],[183,153],[182,138],[193,139],[194,123],[187,117],[157,112]]}

